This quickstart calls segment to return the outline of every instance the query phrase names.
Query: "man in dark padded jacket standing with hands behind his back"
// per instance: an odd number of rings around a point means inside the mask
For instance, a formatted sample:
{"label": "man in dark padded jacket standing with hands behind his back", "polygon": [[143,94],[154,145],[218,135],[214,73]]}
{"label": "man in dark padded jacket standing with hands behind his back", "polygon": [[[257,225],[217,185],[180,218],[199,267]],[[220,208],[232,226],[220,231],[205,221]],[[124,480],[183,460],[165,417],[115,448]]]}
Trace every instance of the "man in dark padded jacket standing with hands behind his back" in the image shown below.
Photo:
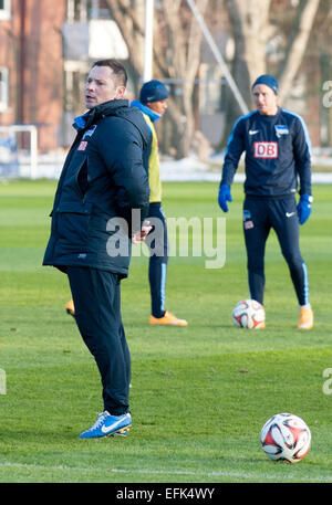
{"label": "man in dark padded jacket standing with hands behind his back", "polygon": [[89,109],[75,119],[76,138],[59,180],[44,265],[65,272],[75,320],[97,364],[104,411],[80,438],[126,435],[131,357],[120,301],[128,274],[131,242],[151,228],[143,152],[149,130],[123,99],[126,71],[114,60],[95,62],[85,86]]}

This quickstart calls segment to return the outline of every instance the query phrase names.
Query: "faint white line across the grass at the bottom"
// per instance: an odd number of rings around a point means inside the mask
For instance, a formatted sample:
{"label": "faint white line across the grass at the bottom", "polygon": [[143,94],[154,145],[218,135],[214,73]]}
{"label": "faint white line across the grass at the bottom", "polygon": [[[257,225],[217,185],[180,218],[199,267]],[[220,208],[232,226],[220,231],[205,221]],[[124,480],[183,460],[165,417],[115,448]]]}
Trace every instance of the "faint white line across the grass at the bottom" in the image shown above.
{"label": "faint white line across the grass at the bottom", "polygon": [[[95,472],[105,472],[106,469],[83,469],[77,466],[65,466],[65,465],[55,465],[55,466],[45,466],[28,463],[10,463],[4,462],[0,463],[1,467],[11,467],[11,469],[30,469],[39,471],[65,471],[65,472],[82,472],[82,473],[95,473]],[[242,478],[243,481],[255,482],[260,481],[272,481],[272,482],[282,482],[290,481],[294,478],[293,475],[277,475],[277,474],[256,474],[256,473],[246,473],[246,472],[194,472],[186,470],[149,470],[149,469],[110,469],[112,474],[136,474],[136,475],[173,475],[173,476],[193,476],[193,477],[232,477],[232,478]],[[314,478],[311,476],[302,475],[298,482],[332,482],[332,475],[325,475],[324,477]]]}

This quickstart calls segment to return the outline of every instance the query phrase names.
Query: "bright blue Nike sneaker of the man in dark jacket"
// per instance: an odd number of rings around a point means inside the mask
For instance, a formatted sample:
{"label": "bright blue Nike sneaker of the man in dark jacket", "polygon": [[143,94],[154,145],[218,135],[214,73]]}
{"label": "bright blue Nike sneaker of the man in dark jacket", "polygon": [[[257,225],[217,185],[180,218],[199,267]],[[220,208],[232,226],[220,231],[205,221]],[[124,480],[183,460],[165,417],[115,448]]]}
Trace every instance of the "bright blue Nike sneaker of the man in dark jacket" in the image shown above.
{"label": "bright blue Nike sneaker of the man in dark jacket", "polygon": [[129,412],[122,415],[111,415],[107,410],[98,414],[98,419],[86,431],[80,434],[80,439],[100,439],[102,436],[125,436],[132,425]]}

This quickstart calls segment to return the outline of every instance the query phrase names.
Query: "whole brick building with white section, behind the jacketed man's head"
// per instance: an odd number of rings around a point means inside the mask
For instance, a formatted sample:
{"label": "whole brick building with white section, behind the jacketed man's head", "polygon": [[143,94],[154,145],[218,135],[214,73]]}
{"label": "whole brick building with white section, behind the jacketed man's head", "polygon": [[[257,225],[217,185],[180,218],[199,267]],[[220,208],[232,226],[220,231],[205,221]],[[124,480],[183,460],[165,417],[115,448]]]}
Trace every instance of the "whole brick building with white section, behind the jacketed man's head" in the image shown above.
{"label": "whole brick building with white section, behind the jacketed man's head", "polygon": [[0,0],[0,125],[37,125],[41,151],[69,145],[91,62],[127,56],[102,0]]}

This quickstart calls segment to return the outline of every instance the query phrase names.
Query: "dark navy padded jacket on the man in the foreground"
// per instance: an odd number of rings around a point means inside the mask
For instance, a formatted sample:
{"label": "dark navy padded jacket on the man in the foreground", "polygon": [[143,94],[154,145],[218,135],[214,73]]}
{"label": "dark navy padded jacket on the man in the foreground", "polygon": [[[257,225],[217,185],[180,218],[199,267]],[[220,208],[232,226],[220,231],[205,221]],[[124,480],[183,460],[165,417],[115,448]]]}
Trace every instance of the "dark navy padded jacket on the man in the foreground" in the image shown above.
{"label": "dark navy padded jacket on the man in the foreground", "polygon": [[[101,104],[75,122],[77,135],[59,180],[43,265],[126,276],[129,236],[148,211],[143,152],[151,134],[142,113],[125,99]],[[138,209],[134,221],[133,209]]]}

